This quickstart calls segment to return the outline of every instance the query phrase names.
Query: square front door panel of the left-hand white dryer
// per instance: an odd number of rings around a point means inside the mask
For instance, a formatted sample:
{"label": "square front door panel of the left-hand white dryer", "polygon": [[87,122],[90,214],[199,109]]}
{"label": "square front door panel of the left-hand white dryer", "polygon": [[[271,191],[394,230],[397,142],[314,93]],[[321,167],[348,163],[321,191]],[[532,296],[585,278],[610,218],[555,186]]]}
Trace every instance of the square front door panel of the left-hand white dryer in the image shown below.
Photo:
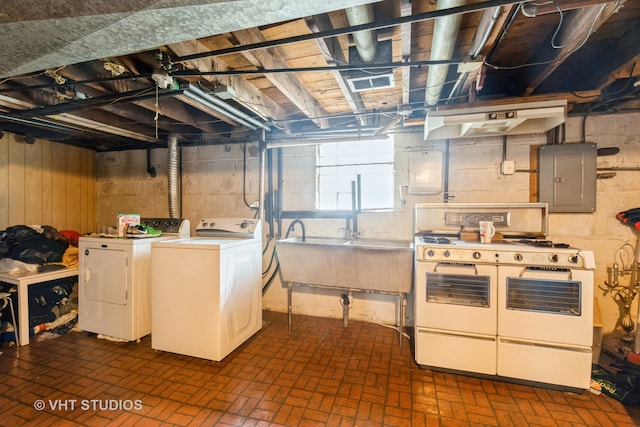
{"label": "square front door panel of the left-hand white dryer", "polygon": [[127,304],[127,254],[125,251],[86,248],[82,253],[84,297],[107,304]]}

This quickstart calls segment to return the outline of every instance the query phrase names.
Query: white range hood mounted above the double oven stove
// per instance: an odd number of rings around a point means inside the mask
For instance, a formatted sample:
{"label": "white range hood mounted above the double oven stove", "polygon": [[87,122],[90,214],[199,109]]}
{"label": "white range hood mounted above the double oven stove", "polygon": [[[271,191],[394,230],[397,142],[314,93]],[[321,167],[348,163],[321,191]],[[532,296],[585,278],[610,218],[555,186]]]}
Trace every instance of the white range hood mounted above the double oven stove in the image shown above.
{"label": "white range hood mounted above the double oven stove", "polygon": [[565,122],[567,101],[539,101],[428,111],[424,139],[544,133]]}

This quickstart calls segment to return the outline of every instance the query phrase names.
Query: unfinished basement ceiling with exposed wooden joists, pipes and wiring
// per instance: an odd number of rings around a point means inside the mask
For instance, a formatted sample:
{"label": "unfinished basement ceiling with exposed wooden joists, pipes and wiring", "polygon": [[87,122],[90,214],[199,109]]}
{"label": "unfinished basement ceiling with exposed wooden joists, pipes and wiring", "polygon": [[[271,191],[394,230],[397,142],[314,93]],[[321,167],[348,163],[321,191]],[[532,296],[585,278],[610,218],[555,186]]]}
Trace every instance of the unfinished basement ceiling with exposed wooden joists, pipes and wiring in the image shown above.
{"label": "unfinished basement ceiling with exposed wooden joists, pipes and wiring", "polygon": [[[360,5],[373,8],[372,22],[349,19],[345,8]],[[462,22],[452,58],[435,61],[435,19],[453,15]],[[637,1],[469,0],[437,10],[410,0],[7,0],[0,16],[0,130],[96,150],[159,147],[171,134],[194,145],[408,131],[434,108],[425,89],[439,64],[457,67],[437,109],[543,100],[566,100],[583,116],[640,108]],[[373,64],[352,60],[359,31],[384,47]],[[395,82],[373,85],[383,71]],[[362,75],[372,84],[359,92],[348,83]],[[179,99],[188,87],[202,96]]]}

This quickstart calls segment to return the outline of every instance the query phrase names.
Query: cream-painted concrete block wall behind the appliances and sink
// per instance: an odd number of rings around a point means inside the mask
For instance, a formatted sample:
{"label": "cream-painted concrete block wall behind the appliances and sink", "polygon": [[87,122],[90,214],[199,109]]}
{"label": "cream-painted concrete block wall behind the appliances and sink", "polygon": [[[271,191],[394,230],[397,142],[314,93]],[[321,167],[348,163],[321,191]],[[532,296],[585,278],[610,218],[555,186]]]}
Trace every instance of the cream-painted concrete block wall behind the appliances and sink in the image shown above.
{"label": "cream-painted concrete block wall behind the appliances and sink", "polygon": [[[570,118],[566,124],[566,142],[595,142],[598,147],[617,146],[620,153],[598,158],[598,167],[628,168],[616,172],[611,179],[597,181],[595,213],[552,214],[550,238],[572,246],[592,250],[596,256],[596,295],[603,314],[605,332],[615,327],[619,309],[611,294],[600,290],[606,280],[606,268],[618,249],[625,243],[635,245],[637,236],[622,225],[615,214],[640,207],[640,114],[593,116],[586,121],[586,137],[582,137],[581,118]],[[446,141],[425,142],[421,129],[415,133],[397,134],[396,184],[409,182],[410,153],[422,150],[444,150]],[[546,144],[546,135],[513,136],[507,139],[506,151],[502,137],[455,140],[449,143],[450,202],[528,202],[530,201],[529,169],[532,146]],[[194,225],[204,217],[253,216],[253,210],[243,200],[243,182],[247,200],[258,200],[257,145],[246,147],[247,175],[243,180],[245,147],[206,146],[185,147],[182,157],[183,217]],[[157,177],[146,173],[146,152],[99,153],[97,155],[97,221],[110,223],[119,211],[140,211],[148,216],[166,216],[166,150],[152,150],[152,165]],[[275,156],[274,156],[275,158]],[[516,165],[516,173],[503,175],[500,164],[506,158]],[[283,209],[311,209],[315,200],[315,148],[303,146],[283,149]],[[395,186],[397,189],[398,185]],[[396,190],[397,191],[397,190]],[[412,240],[413,206],[416,203],[443,201],[443,194],[409,194],[401,205],[396,194],[395,207],[388,212],[362,213],[359,230],[362,237]],[[283,223],[284,233],[288,222]],[[307,235],[337,236],[343,220],[306,220]],[[297,229],[296,229],[297,232]],[[265,241],[266,244],[266,241]],[[268,257],[265,259],[265,265]],[[632,313],[635,316],[637,299]],[[266,309],[286,311],[286,291],[278,278],[264,296]],[[392,297],[375,294],[355,295],[350,318],[381,323],[394,323],[395,302]],[[325,317],[342,317],[339,293],[315,290],[296,291],[294,312]],[[412,310],[408,307],[409,323]]]}

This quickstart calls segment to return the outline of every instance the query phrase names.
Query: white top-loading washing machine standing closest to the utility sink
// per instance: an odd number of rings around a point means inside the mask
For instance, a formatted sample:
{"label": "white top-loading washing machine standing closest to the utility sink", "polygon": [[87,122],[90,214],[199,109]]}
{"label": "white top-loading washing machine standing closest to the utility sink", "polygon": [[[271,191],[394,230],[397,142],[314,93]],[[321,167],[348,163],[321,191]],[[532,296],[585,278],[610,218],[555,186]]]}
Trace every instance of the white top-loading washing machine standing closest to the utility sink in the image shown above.
{"label": "white top-loading washing machine standing closest to the utility sink", "polygon": [[153,349],[220,361],[262,328],[260,221],[203,219],[151,246]]}

